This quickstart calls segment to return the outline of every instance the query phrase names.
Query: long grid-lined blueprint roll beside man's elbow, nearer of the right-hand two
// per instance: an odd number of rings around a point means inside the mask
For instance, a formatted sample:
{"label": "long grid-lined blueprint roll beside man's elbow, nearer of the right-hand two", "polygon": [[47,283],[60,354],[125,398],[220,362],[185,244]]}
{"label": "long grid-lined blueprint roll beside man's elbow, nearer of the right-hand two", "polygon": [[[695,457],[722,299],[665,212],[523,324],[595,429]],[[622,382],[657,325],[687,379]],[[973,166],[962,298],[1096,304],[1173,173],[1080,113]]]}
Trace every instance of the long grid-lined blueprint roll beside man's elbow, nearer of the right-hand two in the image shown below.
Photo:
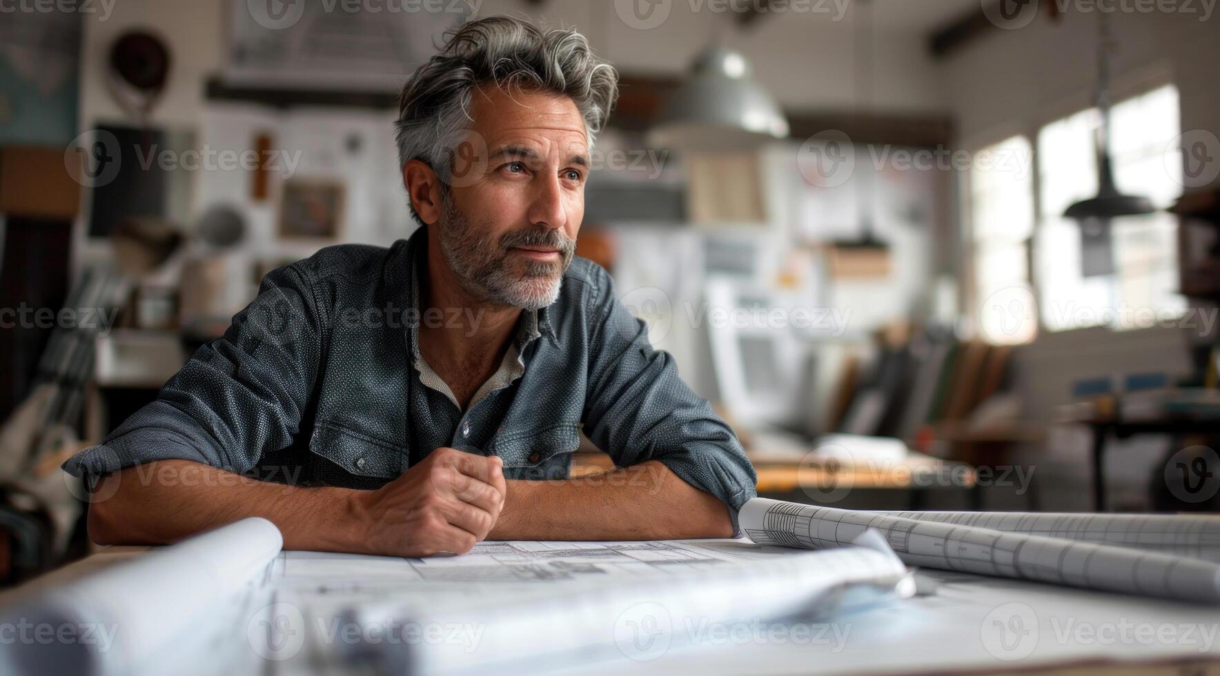
{"label": "long grid-lined blueprint roll beside man's elbow, nearer of the right-hand two", "polygon": [[875,530],[913,566],[1220,603],[1220,565],[1170,554],[765,498],[739,520],[759,544],[824,549]]}

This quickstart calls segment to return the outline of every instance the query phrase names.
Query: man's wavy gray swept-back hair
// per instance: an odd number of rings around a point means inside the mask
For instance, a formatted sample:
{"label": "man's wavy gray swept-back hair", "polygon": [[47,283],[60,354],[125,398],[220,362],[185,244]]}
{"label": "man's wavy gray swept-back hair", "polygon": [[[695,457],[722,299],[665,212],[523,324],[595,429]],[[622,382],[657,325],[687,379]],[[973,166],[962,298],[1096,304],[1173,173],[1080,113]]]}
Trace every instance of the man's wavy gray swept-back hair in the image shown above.
{"label": "man's wavy gray swept-back hair", "polygon": [[[471,121],[471,96],[486,83],[572,99],[589,145],[619,95],[619,73],[576,31],[543,31],[506,16],[468,21],[403,85],[394,122],[399,166],[420,160],[448,182],[453,151]],[[411,215],[420,220],[414,207]]]}

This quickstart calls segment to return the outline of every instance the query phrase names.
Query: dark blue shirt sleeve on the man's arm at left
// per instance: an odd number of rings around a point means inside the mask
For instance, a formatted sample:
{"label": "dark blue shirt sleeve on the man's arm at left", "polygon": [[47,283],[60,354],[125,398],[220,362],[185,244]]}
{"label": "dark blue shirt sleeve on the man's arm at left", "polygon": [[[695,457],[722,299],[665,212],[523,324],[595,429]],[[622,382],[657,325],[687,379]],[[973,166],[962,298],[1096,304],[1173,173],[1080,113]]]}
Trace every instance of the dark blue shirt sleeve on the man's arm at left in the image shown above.
{"label": "dark blue shirt sleeve on the man's arm at left", "polygon": [[317,299],[294,266],[264,277],[222,338],[199,348],[155,401],[101,444],[63,464],[93,483],[154,460],[193,460],[232,472],[289,445],[322,353]]}

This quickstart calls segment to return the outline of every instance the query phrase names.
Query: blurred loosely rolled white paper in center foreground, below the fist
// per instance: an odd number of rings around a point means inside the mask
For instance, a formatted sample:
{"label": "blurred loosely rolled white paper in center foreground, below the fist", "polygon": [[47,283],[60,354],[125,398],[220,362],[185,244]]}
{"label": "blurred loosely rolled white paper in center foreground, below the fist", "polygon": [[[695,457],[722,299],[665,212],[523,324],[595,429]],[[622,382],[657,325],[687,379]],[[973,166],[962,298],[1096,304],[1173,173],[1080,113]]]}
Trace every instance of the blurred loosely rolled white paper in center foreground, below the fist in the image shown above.
{"label": "blurred loosely rolled white paper in center foreground, below the fist", "polygon": [[[377,672],[533,674],[609,658],[649,659],[708,624],[745,626],[830,611],[848,597],[852,603],[877,603],[915,591],[906,567],[875,533],[844,548],[800,554],[733,541],[571,547],[488,543],[473,556],[429,559],[422,566],[412,561],[412,569],[429,576],[425,595],[420,589],[404,591],[349,603],[346,610],[312,606],[309,614],[338,616],[343,625],[370,636],[403,625],[455,631],[454,641],[417,642],[405,649],[368,647],[364,658],[372,660]],[[466,556],[473,563],[461,563]],[[525,563],[518,560],[522,556]],[[544,582],[527,576],[521,583],[466,593],[471,584],[479,584],[467,577],[470,572],[509,570],[516,575],[522,566],[560,572]],[[448,583],[437,584],[437,577],[427,572],[431,569],[445,571]]]}

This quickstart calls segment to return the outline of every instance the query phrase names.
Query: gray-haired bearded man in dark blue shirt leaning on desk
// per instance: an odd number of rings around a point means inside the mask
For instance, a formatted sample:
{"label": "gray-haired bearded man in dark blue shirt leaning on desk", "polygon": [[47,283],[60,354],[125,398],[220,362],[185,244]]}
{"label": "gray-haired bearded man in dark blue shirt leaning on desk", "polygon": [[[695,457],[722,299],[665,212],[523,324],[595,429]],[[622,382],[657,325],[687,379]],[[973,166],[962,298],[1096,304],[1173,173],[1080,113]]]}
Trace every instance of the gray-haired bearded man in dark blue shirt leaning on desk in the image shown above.
{"label": "gray-haired bearded man in dark blue shirt leaning on desk", "polygon": [[[732,536],[755,481],[737,438],[573,256],[616,90],[576,32],[459,28],[399,104],[422,227],[271,272],[156,401],[71,459],[93,539],[245,516],[289,549],[400,556]],[[582,428],[621,469],[566,478]]]}

